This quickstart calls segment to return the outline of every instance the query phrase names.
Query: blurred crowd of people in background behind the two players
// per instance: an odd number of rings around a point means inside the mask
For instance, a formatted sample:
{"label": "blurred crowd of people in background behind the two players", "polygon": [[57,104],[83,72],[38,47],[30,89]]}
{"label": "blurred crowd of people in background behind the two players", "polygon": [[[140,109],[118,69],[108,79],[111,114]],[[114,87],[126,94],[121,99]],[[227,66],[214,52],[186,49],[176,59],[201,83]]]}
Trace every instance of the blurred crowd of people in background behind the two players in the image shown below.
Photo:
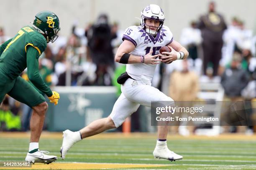
{"label": "blurred crowd of people in background behind the two players", "polygon": [[[118,23],[110,24],[107,14],[99,15],[85,29],[77,25],[74,22],[69,37],[60,36],[47,45],[39,60],[41,76],[51,86],[116,85],[120,94],[115,80],[125,65],[114,62],[114,56],[123,30]],[[9,38],[0,28],[0,44]],[[220,83],[225,100],[255,100],[256,34],[246,28],[243,18],[234,16],[227,22],[210,2],[208,13],[191,21],[175,40],[187,48],[189,57],[159,64],[152,83],[155,87],[174,100],[192,101],[198,99],[200,84]],[[28,80],[26,70],[22,77]],[[7,96],[1,105],[0,130],[28,130],[30,114],[29,107]]]}

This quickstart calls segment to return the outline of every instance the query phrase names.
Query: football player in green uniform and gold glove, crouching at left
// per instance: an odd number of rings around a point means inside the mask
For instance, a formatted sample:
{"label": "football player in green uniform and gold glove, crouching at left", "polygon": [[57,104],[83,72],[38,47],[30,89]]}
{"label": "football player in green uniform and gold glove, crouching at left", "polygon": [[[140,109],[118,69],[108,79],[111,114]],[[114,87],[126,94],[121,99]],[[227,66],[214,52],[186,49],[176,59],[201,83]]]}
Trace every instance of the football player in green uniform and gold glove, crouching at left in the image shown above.
{"label": "football player in green uniform and gold glove, crouching at left", "polygon": [[40,151],[39,138],[44,125],[48,105],[45,98],[32,85],[20,77],[26,67],[28,78],[39,90],[44,92],[50,102],[58,104],[59,94],[51,91],[38,71],[38,58],[46,49],[48,42],[54,42],[59,32],[59,18],[50,11],[36,14],[32,27],[26,26],[12,39],[0,46],[0,103],[6,94],[33,108],[30,121],[31,138],[25,158],[32,163],[51,163],[57,159]]}

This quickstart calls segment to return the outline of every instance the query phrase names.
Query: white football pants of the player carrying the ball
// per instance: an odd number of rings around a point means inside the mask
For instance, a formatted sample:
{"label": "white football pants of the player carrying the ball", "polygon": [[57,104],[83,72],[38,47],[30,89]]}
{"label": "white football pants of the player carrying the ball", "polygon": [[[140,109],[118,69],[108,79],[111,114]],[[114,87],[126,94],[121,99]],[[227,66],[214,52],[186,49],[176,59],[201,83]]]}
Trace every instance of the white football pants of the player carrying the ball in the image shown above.
{"label": "white football pants of the player carrying the ball", "polygon": [[122,93],[115,102],[110,114],[115,127],[122,125],[126,117],[130,116],[140,105],[151,107],[151,101],[173,101],[163,92],[142,81],[128,78],[121,86]]}

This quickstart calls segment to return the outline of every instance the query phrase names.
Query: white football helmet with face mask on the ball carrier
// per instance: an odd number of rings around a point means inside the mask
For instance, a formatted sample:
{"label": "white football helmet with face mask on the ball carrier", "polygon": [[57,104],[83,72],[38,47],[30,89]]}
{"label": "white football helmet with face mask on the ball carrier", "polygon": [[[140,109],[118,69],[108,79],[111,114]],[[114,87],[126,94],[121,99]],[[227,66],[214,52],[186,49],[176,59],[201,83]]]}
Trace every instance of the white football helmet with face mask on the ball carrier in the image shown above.
{"label": "white football helmet with face mask on the ball carrier", "polygon": [[[154,30],[150,30],[150,28],[146,28],[146,23],[145,20],[149,19],[149,20],[157,20],[160,22],[159,27],[156,29],[156,31]],[[156,35],[157,32],[159,32],[162,28],[162,26],[164,25],[164,12],[161,9],[161,7],[159,7],[158,5],[155,4],[150,4],[148,6],[146,6],[143,11],[141,12],[141,28],[145,29],[145,31],[150,34],[150,35]],[[149,26],[149,25],[148,25]],[[149,26],[150,27],[150,26]]]}

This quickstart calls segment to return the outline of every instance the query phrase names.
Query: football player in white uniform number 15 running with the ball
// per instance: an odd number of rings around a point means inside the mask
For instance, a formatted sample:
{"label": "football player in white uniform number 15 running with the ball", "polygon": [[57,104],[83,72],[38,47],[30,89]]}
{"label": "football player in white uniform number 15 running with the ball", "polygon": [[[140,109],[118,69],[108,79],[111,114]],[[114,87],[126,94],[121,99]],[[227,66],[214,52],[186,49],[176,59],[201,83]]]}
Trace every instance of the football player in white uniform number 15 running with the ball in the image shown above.
{"label": "football player in white uniform number 15 running with the ball", "polygon": [[[105,130],[119,127],[126,117],[135,112],[139,105],[151,106],[151,101],[169,101],[171,97],[151,86],[156,65],[166,64],[174,60],[185,59],[187,50],[173,40],[172,32],[164,26],[164,13],[158,5],[148,5],[141,12],[141,26],[131,26],[123,34],[123,43],[118,48],[115,61],[127,64],[126,72],[118,78],[122,84],[122,94],[115,102],[111,114],[95,120],[77,132],[65,130],[61,146],[61,158],[64,159],[67,151],[82,138],[87,138]],[[172,52],[163,52],[165,57],[159,56],[159,49],[168,45]],[[155,158],[166,160],[180,160],[183,157],[167,148],[168,127],[158,127],[158,140],[153,155]]]}

